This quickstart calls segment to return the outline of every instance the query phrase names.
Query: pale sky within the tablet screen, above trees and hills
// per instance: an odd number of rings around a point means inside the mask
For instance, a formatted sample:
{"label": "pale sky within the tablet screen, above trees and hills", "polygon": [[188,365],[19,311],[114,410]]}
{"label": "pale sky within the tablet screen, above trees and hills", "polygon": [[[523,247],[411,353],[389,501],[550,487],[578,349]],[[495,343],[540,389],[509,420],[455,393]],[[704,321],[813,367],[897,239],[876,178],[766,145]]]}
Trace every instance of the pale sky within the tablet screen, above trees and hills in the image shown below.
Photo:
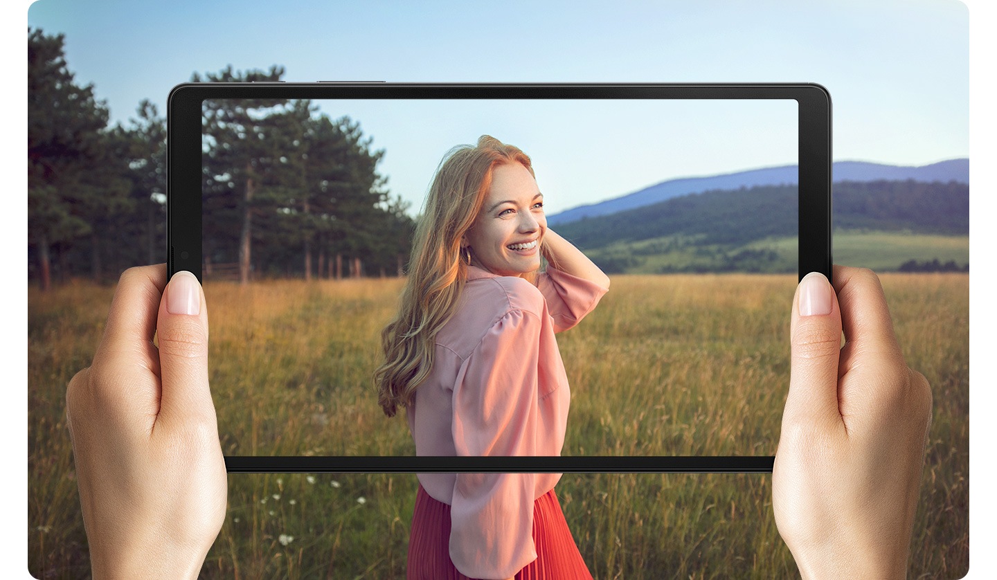
{"label": "pale sky within the tablet screen, above trees and hills", "polygon": [[619,197],[663,180],[795,164],[797,112],[776,101],[318,101],[361,123],[392,195],[415,215],[444,153],[481,135],[532,157],[544,209]]}

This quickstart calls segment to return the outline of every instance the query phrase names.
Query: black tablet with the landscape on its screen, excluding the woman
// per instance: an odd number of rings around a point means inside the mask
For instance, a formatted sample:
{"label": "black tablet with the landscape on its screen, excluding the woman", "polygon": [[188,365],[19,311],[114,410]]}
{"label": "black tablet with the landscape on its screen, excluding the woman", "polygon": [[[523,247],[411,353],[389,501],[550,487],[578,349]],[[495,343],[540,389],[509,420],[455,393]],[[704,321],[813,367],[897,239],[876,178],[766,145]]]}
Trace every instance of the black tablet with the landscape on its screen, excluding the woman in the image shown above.
{"label": "black tablet with the landscape on its screen, excluding the woman", "polygon": [[[203,283],[229,471],[771,471],[799,280],[831,278],[831,98],[814,84],[184,84],[168,270]],[[557,335],[560,456],[418,456],[373,374],[422,203],[481,136],[611,280]]]}

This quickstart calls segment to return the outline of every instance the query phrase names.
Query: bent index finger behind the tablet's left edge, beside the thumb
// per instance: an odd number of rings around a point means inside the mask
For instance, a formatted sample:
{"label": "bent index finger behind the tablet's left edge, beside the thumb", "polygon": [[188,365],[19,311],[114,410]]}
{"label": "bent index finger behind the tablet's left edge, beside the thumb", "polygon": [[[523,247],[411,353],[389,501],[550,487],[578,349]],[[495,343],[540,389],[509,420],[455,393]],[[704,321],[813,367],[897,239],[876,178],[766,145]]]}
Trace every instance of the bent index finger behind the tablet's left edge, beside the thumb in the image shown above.
{"label": "bent index finger behind the tablet's left edge, beside the thumb", "polygon": [[104,337],[94,356],[100,359],[148,357],[156,334],[156,316],[166,286],[166,264],[129,268],[118,281]]}

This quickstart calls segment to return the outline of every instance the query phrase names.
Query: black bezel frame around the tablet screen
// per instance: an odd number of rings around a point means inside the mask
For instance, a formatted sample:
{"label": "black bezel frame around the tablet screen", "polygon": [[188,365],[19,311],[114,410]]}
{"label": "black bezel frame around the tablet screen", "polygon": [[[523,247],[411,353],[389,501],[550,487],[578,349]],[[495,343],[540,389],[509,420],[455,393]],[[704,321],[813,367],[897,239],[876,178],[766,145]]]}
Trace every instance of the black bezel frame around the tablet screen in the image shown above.
{"label": "black bezel frame around the tablet screen", "polygon": [[[795,100],[799,275],[831,279],[831,95],[811,83],[408,84],[186,83],[166,113],[167,273],[201,279],[201,107],[208,99]],[[771,472],[774,456],[226,456],[229,472]]]}

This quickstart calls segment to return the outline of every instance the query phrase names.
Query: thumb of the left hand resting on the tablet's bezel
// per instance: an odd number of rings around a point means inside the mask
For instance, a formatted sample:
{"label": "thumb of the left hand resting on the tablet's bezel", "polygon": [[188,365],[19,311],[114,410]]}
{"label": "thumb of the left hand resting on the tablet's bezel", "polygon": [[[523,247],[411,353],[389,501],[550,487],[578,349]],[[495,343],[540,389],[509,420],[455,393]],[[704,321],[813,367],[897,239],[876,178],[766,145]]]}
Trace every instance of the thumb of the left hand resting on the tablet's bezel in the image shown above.
{"label": "thumb of the left hand resting on the tablet's bezel", "polygon": [[193,274],[176,272],[160,303],[157,335],[163,391],[157,424],[214,422],[207,382],[207,308]]}

